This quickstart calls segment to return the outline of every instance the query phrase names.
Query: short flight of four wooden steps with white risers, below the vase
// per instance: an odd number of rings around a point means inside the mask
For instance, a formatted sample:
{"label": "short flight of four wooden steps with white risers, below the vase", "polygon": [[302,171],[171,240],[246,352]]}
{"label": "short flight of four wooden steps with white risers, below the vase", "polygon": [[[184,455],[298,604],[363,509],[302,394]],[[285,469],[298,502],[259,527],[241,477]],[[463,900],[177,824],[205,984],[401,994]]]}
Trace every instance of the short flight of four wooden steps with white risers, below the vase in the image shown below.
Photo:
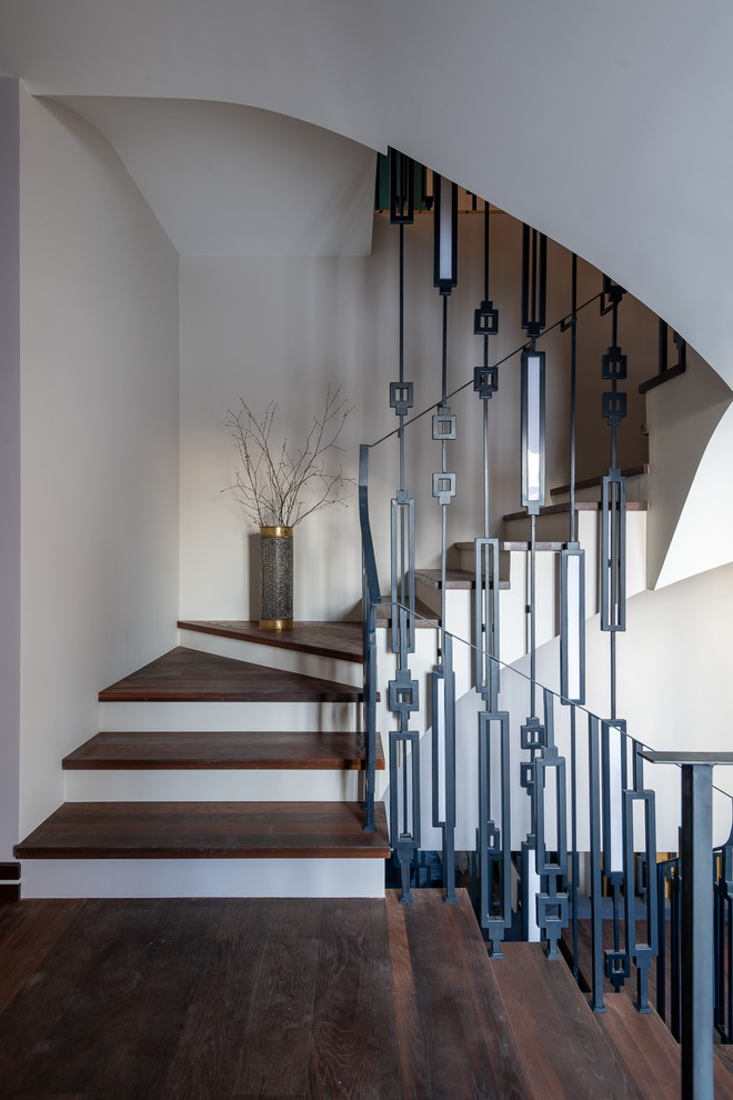
{"label": "short flight of four wooden steps with white risers, below the vase", "polygon": [[381,897],[361,626],[181,622],[179,640],[100,692],[102,731],[63,760],[67,801],[16,848],[23,894]]}

